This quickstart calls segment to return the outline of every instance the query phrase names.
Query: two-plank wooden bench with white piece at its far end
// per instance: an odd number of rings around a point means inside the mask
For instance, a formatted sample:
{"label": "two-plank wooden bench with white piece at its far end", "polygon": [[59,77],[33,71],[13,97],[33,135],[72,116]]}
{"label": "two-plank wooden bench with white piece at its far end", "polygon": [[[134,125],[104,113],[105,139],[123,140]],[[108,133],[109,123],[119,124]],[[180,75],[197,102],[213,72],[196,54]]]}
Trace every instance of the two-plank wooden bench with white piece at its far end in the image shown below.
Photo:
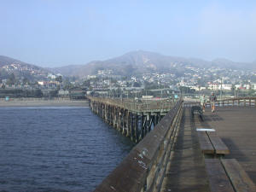
{"label": "two-plank wooden bench with white piece at its far end", "polygon": [[230,154],[230,149],[223,143],[215,131],[201,131],[197,129],[197,135],[201,147],[201,152],[205,155],[223,156]]}

